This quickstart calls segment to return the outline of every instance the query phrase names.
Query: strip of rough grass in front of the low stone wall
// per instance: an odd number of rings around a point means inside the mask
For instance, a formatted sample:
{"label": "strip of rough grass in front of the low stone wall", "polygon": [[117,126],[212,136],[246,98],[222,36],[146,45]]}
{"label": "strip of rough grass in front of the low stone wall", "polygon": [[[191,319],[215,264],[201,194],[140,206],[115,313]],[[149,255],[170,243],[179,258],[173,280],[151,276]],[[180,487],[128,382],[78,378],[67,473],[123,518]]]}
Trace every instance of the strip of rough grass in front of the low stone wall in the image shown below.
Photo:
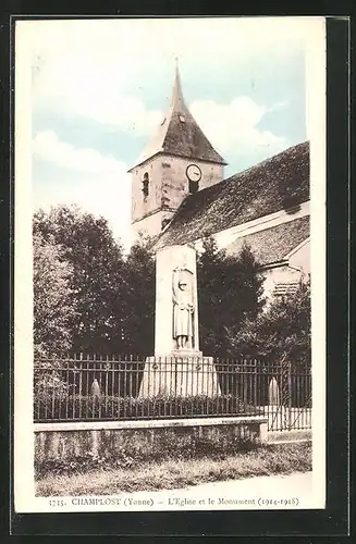
{"label": "strip of rough grass in front of the low stone wall", "polygon": [[311,444],[274,444],[221,459],[164,460],[131,469],[100,469],[72,475],[46,475],[37,496],[114,495],[123,492],[182,489],[205,482],[240,480],[311,470]]}

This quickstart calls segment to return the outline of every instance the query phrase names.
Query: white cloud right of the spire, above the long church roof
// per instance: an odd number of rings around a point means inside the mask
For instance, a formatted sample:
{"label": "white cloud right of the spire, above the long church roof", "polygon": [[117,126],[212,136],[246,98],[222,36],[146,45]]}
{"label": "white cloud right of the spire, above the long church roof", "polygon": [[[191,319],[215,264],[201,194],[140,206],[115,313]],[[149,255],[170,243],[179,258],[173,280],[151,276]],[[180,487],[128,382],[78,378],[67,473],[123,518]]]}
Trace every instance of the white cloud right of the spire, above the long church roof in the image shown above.
{"label": "white cloud right of the spire, above the long church roof", "polygon": [[[229,161],[229,157],[233,157],[244,168],[253,165],[256,157],[262,160],[289,146],[284,136],[258,127],[271,109],[249,97],[237,97],[229,104],[198,100],[191,104],[191,111],[224,158]],[[251,164],[248,164],[249,160]]]}

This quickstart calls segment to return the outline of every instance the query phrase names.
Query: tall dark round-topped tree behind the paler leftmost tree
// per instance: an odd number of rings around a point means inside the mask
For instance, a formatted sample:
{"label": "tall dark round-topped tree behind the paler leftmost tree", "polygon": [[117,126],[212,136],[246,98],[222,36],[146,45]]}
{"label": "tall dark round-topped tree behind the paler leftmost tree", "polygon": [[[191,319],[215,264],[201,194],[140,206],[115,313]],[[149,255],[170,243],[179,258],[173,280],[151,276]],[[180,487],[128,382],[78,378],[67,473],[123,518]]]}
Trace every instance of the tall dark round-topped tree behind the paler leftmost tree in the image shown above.
{"label": "tall dark round-topped tree behind the paler leftmost tree", "polygon": [[87,353],[122,350],[124,259],[121,245],[103,218],[76,207],[60,206],[34,217],[34,235],[62,247],[71,263],[71,289],[77,313],[72,349]]}

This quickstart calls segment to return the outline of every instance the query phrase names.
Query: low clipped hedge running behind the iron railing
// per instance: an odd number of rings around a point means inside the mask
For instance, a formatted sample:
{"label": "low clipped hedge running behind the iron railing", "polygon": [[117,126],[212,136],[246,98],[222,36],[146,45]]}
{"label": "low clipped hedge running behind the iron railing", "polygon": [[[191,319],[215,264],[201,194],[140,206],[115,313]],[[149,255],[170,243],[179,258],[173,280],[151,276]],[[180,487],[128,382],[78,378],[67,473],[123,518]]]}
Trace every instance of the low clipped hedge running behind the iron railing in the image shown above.
{"label": "low clipped hedge running behind the iron railing", "polygon": [[36,421],[73,419],[143,419],[234,413],[251,416],[259,411],[234,395],[195,395],[189,397],[79,396],[37,392],[34,395]]}

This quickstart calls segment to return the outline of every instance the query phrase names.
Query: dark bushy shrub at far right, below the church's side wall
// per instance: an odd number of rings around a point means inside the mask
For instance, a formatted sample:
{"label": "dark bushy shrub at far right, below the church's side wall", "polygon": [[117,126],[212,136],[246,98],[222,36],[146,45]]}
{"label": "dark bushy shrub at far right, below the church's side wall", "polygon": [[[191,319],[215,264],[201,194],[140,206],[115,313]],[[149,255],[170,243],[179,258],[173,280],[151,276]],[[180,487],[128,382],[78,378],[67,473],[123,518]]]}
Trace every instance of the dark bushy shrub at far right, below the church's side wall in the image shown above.
{"label": "dark bushy shrub at far right, below the church's side wall", "polygon": [[265,356],[273,362],[310,363],[310,281],[297,292],[275,298],[257,319],[247,319],[238,330],[230,329],[230,353]]}

